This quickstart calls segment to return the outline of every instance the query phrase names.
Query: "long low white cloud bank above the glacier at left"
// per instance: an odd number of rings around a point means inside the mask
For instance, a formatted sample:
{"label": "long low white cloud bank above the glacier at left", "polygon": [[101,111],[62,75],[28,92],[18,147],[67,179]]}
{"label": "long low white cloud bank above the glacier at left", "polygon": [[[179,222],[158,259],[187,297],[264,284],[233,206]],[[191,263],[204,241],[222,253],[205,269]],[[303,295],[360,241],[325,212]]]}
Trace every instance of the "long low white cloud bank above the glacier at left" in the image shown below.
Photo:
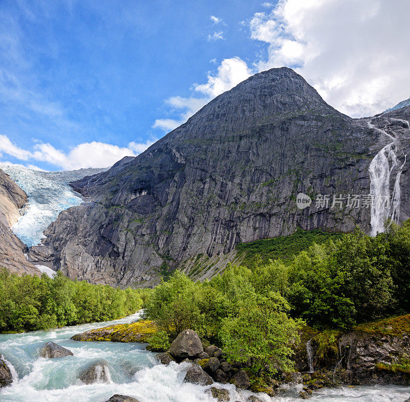
{"label": "long low white cloud bank above the glacier at left", "polygon": [[[130,142],[128,147],[93,141],[78,144],[66,153],[46,143],[36,143],[32,150],[26,150],[13,144],[7,136],[0,135],[0,152],[22,161],[48,162],[63,170],[72,170],[85,167],[109,167],[125,156],[140,154],[155,141],[152,139],[145,143]],[[30,168],[33,166],[35,167],[32,164],[27,165]]]}

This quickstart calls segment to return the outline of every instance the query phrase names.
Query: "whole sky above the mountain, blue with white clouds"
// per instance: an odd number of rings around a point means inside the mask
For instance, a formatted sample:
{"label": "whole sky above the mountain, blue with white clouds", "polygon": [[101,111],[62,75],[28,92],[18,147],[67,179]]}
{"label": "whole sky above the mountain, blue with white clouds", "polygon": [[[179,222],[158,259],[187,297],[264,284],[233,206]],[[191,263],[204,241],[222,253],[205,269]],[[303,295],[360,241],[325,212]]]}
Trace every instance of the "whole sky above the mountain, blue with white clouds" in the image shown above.
{"label": "whole sky above the mountain, blue with white clouds", "polygon": [[[112,164],[137,155],[250,74],[281,65],[296,68],[351,116],[410,95],[408,72],[407,87],[392,89],[404,71],[394,62],[377,71],[380,61],[369,52],[368,71],[358,62],[352,72],[351,64],[336,68],[332,55],[352,54],[352,30],[364,38],[353,54],[365,51],[378,18],[394,29],[395,18],[404,24],[399,14],[408,14],[408,3],[387,15],[381,0],[353,2],[353,10],[346,6],[352,0],[311,3],[3,0],[0,160],[47,170]],[[364,19],[352,22],[352,13]],[[332,17],[344,22],[342,32],[336,27],[341,39],[332,24],[320,28]]]}

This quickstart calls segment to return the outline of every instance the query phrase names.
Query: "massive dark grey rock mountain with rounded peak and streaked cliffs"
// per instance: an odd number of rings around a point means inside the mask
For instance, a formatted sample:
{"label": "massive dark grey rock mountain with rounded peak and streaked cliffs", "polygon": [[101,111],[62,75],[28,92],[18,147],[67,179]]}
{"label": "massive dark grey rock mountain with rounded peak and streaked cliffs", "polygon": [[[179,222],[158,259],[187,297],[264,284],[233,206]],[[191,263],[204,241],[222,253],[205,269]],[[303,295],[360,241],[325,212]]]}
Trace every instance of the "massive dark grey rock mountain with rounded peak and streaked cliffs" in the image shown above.
{"label": "massive dark grey rock mountain with rounded peak and streaked cliffs", "polygon": [[[89,202],[61,213],[30,257],[71,278],[148,286],[193,256],[229,253],[238,242],[297,227],[347,232],[359,224],[370,233],[369,208],[331,208],[332,199],[316,206],[315,199],[368,194],[369,165],[390,141],[377,127],[393,127],[404,144],[409,114],[407,107],[351,119],[293,70],[261,72],[136,158],[72,183]],[[401,181],[408,199],[405,167]],[[298,209],[298,193],[312,206]],[[409,210],[403,204],[400,218]]]}

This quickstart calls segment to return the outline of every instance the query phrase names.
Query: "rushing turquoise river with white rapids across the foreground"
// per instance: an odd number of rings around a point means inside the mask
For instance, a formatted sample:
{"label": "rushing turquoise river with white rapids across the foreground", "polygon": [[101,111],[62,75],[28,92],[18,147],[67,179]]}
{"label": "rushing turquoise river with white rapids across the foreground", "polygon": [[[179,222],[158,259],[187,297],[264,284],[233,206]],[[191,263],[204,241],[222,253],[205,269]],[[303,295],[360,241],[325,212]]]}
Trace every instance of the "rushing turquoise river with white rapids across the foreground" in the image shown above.
{"label": "rushing turquoise river with white rapids across the foreground", "polygon": [[[158,364],[155,353],[148,352],[145,344],[119,342],[78,342],[70,337],[92,328],[112,323],[132,322],[139,313],[111,321],[59,328],[51,332],[29,332],[1,335],[0,352],[11,363],[15,380],[12,386],[0,390],[2,402],[105,402],[113,394],[129,395],[140,402],[215,402],[204,393],[206,388],[183,382],[189,367],[187,363],[169,366]],[[47,341],[70,349],[74,356],[44,359],[38,349]],[[77,375],[91,363],[106,360],[110,384],[84,385]],[[231,401],[245,401],[251,394],[238,393],[232,385],[216,385],[230,390]],[[283,390],[281,396],[265,401],[300,401],[301,387]],[[410,397],[409,387],[341,387],[316,391],[310,400],[321,402],[387,402],[404,401]]]}

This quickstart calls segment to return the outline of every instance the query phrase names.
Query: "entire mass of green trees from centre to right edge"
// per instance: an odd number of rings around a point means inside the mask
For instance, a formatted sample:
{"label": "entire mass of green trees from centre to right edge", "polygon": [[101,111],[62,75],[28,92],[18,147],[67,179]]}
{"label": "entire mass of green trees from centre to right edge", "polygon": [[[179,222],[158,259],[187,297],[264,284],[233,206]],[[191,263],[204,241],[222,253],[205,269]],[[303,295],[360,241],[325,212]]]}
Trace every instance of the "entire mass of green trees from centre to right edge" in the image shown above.
{"label": "entire mass of green trees from centre to right edge", "polygon": [[[297,232],[290,247],[277,253],[288,256],[297,242],[305,248],[305,235]],[[320,231],[310,236],[323,240]],[[259,248],[272,251],[279,243]],[[146,310],[163,331],[156,349],[190,328],[223,347],[228,359],[251,361],[255,371],[266,366],[275,371],[292,365],[303,321],[327,329],[329,339],[322,343],[332,348],[335,330],[410,312],[410,221],[390,224],[375,238],[359,229],[328,236],[291,260],[266,261],[255,253],[248,261],[248,267],[228,265],[203,283],[176,272],[158,285]]]}

